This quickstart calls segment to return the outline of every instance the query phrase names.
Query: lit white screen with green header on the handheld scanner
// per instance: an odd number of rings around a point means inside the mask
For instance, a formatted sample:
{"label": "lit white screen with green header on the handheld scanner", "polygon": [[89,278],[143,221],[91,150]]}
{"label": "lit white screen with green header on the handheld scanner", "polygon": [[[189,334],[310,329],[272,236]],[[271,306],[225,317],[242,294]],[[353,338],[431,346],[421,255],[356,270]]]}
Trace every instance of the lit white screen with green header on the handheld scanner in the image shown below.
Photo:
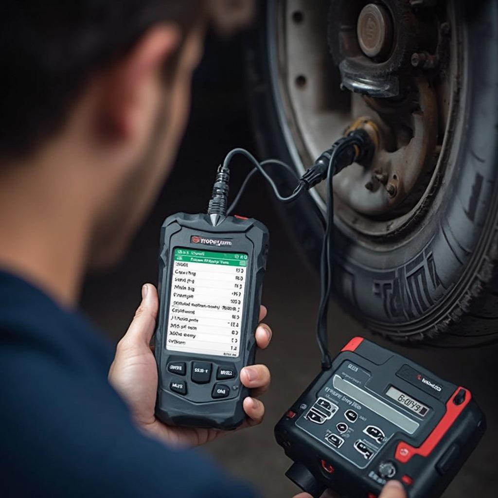
{"label": "lit white screen with green header on the handheld scanner", "polygon": [[248,255],[175,248],[166,349],[237,358]]}

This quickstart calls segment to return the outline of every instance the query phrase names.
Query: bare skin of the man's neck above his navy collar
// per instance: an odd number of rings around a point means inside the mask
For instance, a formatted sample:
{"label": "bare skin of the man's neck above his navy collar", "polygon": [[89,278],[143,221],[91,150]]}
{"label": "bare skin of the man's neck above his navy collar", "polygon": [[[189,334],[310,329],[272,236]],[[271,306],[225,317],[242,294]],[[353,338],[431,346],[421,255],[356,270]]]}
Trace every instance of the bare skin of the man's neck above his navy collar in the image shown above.
{"label": "bare skin of the man's neck above his navy collar", "polygon": [[0,267],[73,306],[86,265],[90,216],[77,189],[63,185],[69,179],[58,173],[64,176],[62,168],[47,175],[37,164],[1,172]]}

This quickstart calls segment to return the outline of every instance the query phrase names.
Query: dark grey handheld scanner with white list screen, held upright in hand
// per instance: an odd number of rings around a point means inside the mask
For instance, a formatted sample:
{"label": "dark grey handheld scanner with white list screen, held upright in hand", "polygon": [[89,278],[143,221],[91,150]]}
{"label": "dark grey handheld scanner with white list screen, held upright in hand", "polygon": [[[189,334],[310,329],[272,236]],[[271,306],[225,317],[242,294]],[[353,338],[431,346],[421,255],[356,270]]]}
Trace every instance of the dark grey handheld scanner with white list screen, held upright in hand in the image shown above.
{"label": "dark grey handheld scanner with white list screen, held upright in hand", "polygon": [[256,220],[214,218],[179,213],[161,229],[156,415],[233,429],[245,418],[239,373],[254,363],[268,231]]}

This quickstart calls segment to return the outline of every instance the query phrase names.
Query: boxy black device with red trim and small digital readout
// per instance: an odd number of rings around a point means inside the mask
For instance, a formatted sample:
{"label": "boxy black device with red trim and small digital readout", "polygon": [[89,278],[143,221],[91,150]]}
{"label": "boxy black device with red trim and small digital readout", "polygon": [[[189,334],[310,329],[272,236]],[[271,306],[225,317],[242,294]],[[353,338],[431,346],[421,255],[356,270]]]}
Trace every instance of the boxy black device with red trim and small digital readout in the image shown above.
{"label": "boxy black device with red trim and small digital readout", "polygon": [[375,498],[390,479],[440,497],[477,446],[483,412],[465,387],[361,337],[289,408],[275,437],[286,476],[313,497]]}

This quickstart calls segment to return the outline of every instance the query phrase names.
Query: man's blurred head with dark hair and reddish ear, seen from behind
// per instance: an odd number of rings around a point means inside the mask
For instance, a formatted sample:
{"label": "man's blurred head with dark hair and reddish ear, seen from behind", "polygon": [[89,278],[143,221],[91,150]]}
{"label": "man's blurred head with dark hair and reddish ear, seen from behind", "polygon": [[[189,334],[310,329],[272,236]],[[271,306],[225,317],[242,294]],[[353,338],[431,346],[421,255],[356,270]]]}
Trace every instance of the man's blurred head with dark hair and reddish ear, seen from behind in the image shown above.
{"label": "man's blurred head with dark hair and reddish ear, seen from behind", "polygon": [[120,255],[162,186],[220,3],[2,3],[0,182],[68,218],[88,211],[90,263]]}

